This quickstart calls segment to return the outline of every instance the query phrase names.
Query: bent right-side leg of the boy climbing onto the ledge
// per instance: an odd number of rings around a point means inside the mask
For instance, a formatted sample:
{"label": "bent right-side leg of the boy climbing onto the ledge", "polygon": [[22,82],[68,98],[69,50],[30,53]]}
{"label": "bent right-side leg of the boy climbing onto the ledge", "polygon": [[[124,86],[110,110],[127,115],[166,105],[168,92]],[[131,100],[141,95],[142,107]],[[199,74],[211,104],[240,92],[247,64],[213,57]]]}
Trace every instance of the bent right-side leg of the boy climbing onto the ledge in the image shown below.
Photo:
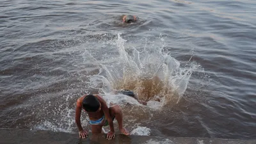
{"label": "bent right-side leg of the boy climbing onto the ledge", "polygon": [[118,105],[111,106],[109,108],[109,113],[111,117],[116,118],[116,121],[118,122],[118,127],[120,132],[122,132],[125,135],[129,135],[129,132],[123,127],[123,112],[122,108]]}

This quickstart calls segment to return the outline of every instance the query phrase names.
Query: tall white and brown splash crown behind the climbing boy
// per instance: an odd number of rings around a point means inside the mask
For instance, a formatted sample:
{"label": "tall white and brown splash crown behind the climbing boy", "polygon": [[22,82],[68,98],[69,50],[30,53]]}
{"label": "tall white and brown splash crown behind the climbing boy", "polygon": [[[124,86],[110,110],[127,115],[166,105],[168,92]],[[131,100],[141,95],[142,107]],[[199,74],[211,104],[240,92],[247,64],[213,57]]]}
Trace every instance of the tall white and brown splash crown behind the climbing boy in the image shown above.
{"label": "tall white and brown splash crown behind the climbing boy", "polygon": [[[163,42],[163,38],[160,38]],[[139,99],[162,105],[178,102],[187,88],[189,78],[196,65],[180,67],[180,62],[164,52],[160,47],[147,45],[143,49],[129,47],[119,33],[112,40],[118,55],[111,62],[100,63],[99,74],[90,76],[92,88],[100,88],[103,93],[128,89],[136,92]],[[154,101],[154,102],[152,102]]]}

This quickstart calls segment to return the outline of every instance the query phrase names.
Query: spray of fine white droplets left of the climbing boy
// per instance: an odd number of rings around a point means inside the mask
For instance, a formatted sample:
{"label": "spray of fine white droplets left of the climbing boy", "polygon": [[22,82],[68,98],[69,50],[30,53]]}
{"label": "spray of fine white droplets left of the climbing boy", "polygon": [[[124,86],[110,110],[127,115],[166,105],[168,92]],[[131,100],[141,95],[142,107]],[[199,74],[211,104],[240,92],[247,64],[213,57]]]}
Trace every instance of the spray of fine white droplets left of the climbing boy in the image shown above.
{"label": "spray of fine white droplets left of the climbing boy", "polygon": [[[54,132],[68,132],[76,131],[75,109],[74,103],[70,103],[72,95],[65,95],[66,97],[59,98],[53,102],[42,102],[40,110],[35,111],[38,122],[36,122],[31,130],[45,130]],[[52,104],[53,103],[53,104]],[[35,123],[35,122],[34,122]],[[88,125],[88,116],[81,115],[81,124]]]}

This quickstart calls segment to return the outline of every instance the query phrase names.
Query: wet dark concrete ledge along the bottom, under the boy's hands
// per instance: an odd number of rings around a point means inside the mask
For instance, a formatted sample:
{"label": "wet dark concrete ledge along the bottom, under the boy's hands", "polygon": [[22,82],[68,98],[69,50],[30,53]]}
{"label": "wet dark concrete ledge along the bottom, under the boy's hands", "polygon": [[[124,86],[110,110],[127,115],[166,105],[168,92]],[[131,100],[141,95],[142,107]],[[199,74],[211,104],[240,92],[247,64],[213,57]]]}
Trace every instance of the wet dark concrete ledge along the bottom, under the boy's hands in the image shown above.
{"label": "wet dark concrete ledge along the bottom, under the boy's hands", "polygon": [[256,140],[230,140],[220,138],[180,138],[158,136],[116,135],[114,140],[106,140],[106,134],[97,134],[81,140],[78,134],[52,131],[29,131],[26,129],[0,129],[0,143],[170,143],[170,144],[255,144]]}

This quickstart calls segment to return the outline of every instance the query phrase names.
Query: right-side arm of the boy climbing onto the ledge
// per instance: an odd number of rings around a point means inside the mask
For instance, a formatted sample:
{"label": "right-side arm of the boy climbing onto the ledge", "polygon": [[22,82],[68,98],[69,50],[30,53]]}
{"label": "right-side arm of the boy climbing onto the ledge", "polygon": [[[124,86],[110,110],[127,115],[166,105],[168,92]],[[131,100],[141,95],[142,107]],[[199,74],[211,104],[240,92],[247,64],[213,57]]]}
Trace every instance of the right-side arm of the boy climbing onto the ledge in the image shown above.
{"label": "right-side arm of the boy climbing onto the ledge", "polygon": [[115,132],[114,124],[113,124],[113,118],[111,118],[111,116],[110,116],[109,108],[107,106],[106,101],[104,99],[102,99],[102,97],[100,97],[99,95],[96,95],[96,96],[99,99],[100,104],[101,104],[101,108],[102,108],[102,110],[104,112],[104,115],[105,115],[106,119],[108,120],[110,131],[111,132]]}

